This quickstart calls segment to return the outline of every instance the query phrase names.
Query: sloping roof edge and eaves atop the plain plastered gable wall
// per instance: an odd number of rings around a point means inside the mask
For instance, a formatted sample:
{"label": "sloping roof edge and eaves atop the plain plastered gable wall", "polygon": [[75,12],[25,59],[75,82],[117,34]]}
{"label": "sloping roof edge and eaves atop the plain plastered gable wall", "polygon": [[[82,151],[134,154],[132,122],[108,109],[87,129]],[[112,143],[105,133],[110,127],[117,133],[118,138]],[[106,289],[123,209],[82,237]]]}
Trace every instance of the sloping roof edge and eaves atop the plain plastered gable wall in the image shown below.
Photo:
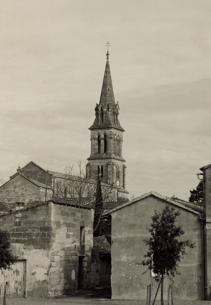
{"label": "sloping roof edge and eaves atop the plain plastered gable wall", "polygon": [[126,203],[121,204],[120,206],[117,206],[117,207],[105,212],[103,215],[111,214],[111,213],[113,213],[113,212],[115,212],[115,211],[117,211],[117,210],[119,210],[119,209],[121,209],[125,206],[133,204],[133,203],[135,203],[139,200],[142,200],[146,197],[149,197],[149,196],[155,196],[159,199],[162,199],[166,202],[172,203],[175,206],[179,206],[179,207],[181,207],[185,210],[188,210],[189,212],[195,213],[195,214],[201,214],[203,212],[203,208],[200,207],[200,206],[196,206],[195,204],[189,203],[189,202],[187,202],[185,200],[182,200],[182,199],[167,197],[167,196],[164,196],[164,195],[160,195],[157,192],[151,191],[149,193],[143,194],[142,196],[140,196],[138,198],[135,198],[134,200],[131,200],[131,201],[128,201]]}

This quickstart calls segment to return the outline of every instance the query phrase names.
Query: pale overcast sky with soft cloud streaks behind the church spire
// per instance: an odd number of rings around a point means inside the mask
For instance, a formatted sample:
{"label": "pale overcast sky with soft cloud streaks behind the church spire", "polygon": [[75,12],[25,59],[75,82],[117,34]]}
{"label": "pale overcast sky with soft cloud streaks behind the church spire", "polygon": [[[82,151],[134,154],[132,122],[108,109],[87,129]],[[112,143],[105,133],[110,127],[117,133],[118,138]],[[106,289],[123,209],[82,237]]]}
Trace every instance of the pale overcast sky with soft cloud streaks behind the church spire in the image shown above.
{"label": "pale overcast sky with soft cloud streaks behind the church spire", "polygon": [[210,0],[2,0],[2,182],[86,163],[110,42],[131,195],[188,200],[211,163]]}

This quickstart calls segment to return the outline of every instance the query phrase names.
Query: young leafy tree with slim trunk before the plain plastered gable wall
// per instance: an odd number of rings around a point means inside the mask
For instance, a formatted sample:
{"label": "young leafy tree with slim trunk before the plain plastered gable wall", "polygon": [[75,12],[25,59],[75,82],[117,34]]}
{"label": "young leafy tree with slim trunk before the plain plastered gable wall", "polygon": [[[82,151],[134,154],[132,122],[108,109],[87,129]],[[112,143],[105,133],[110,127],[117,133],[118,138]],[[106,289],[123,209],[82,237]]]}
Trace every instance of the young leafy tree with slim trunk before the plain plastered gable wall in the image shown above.
{"label": "young leafy tree with slim trunk before the plain plastered gable wall", "polygon": [[166,274],[171,282],[173,277],[179,274],[177,268],[181,259],[186,254],[185,248],[195,247],[195,243],[191,240],[181,241],[178,238],[185,232],[181,226],[176,226],[176,218],[180,215],[173,207],[165,206],[164,210],[159,213],[155,210],[155,214],[151,217],[152,222],[150,228],[147,228],[151,237],[145,239],[148,251],[144,255],[146,260],[142,260],[139,265],[147,266],[147,270],[152,270],[156,274],[156,280],[161,281],[161,305],[163,301],[163,279]]}

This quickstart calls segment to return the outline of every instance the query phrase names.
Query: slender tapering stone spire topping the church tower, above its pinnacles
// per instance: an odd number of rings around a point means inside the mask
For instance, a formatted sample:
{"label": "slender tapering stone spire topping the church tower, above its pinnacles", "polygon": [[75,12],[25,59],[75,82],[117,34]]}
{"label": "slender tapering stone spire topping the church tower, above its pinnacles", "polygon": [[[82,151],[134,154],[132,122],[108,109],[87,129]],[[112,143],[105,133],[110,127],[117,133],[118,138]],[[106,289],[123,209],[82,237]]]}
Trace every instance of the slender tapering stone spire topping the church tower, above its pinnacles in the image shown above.
{"label": "slender tapering stone spire topping the church tower, above its pinnacles", "polygon": [[102,103],[105,107],[109,106],[112,107],[115,105],[114,100],[114,91],[112,86],[112,80],[111,80],[111,70],[109,65],[109,53],[107,50],[106,54],[106,67],[105,67],[105,73],[103,78],[103,85],[100,95],[100,104]]}

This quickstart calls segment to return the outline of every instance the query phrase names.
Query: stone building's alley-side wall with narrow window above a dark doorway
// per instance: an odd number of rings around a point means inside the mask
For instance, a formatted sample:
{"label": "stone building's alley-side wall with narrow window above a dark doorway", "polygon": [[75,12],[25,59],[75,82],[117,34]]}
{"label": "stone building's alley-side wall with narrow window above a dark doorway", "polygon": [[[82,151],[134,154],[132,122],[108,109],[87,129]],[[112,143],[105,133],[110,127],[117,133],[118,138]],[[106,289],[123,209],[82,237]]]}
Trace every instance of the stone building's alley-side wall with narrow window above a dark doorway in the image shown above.
{"label": "stone building's alley-side wall with narrow window above a dark doorway", "polygon": [[[93,211],[52,204],[52,233],[49,278],[50,296],[78,288],[79,256],[83,257],[83,288],[90,284],[91,249],[93,244]],[[80,226],[85,227],[85,243],[80,246]]]}

